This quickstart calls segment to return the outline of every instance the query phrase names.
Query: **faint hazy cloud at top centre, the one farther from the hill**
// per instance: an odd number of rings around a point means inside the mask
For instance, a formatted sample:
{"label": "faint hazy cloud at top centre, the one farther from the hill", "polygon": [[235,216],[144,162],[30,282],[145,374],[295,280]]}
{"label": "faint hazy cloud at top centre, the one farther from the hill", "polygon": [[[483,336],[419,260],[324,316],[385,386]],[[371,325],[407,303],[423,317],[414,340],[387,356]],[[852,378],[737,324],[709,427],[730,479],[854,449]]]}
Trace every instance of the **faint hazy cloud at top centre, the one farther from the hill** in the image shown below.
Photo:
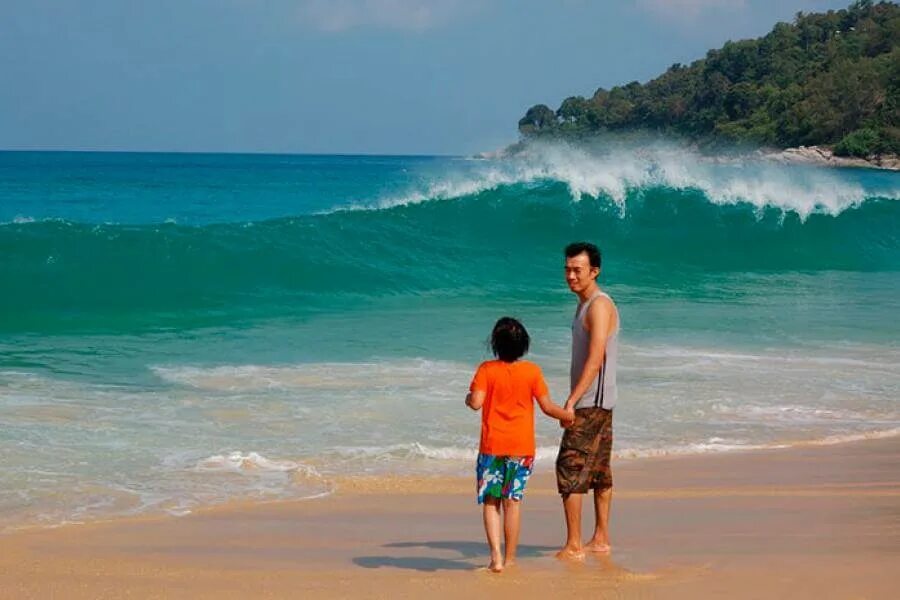
{"label": "faint hazy cloud at top centre, the one farther from the hill", "polygon": [[425,31],[477,10],[474,0],[302,0],[303,23],[322,31],[359,27]]}

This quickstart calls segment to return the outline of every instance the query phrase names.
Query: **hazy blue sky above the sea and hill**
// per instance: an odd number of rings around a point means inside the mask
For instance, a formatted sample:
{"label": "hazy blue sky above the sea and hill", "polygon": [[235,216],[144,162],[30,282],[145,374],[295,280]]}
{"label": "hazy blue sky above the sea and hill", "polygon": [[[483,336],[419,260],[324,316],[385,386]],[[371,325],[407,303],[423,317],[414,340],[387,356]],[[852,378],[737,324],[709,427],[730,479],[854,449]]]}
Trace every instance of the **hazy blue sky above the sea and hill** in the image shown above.
{"label": "hazy blue sky above the sea and hill", "polygon": [[4,0],[0,148],[465,154],[850,0]]}

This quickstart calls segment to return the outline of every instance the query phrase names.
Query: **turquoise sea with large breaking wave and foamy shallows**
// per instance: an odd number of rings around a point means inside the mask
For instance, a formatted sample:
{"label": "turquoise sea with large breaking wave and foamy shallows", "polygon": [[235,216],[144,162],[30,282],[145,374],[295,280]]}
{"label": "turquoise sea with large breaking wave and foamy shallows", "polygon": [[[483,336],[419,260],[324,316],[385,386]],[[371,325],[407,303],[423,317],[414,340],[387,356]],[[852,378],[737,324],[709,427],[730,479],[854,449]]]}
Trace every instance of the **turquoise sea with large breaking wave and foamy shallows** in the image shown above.
{"label": "turquoise sea with large breaking wave and foamy shallows", "polygon": [[898,200],[666,148],[0,153],[0,528],[468,473],[497,317],[564,399],[576,239],[620,306],[620,455],[896,434]]}

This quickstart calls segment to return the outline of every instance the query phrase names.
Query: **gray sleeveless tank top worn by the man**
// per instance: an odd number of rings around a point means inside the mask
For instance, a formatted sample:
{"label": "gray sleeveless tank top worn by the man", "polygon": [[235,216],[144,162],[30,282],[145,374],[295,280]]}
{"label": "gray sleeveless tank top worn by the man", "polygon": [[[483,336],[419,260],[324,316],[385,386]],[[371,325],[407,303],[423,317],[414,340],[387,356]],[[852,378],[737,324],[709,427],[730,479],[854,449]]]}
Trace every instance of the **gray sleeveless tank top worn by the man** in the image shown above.
{"label": "gray sleeveless tank top worn by the man", "polygon": [[[609,298],[609,296],[598,290],[575,310],[575,318],[572,320],[572,367],[569,371],[570,391],[575,388],[575,385],[581,378],[581,372],[584,370],[584,363],[587,362],[588,350],[590,349],[590,333],[584,327],[584,316],[594,300],[600,296]],[[615,304],[613,306],[615,307]],[[614,310],[616,311],[616,328],[606,338],[606,352],[603,353],[603,364],[600,366],[600,372],[594,377],[591,387],[575,403],[576,409],[601,406],[611,410],[616,405],[616,396],[618,395],[616,391],[616,363],[619,358],[619,329],[621,328],[621,323],[619,321],[619,310],[617,308],[614,308]]]}

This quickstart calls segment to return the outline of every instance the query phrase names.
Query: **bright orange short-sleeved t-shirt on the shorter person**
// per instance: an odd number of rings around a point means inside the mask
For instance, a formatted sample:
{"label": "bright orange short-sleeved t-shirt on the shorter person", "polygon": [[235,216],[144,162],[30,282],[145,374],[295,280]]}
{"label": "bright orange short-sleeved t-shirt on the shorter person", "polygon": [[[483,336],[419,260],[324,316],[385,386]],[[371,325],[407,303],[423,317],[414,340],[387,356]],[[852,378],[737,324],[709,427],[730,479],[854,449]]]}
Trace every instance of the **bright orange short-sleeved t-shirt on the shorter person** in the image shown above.
{"label": "bright orange short-sleeved t-shirt on the shorter person", "polygon": [[548,393],[541,368],[527,360],[489,360],[475,371],[469,390],[485,392],[479,452],[534,456],[534,399]]}

